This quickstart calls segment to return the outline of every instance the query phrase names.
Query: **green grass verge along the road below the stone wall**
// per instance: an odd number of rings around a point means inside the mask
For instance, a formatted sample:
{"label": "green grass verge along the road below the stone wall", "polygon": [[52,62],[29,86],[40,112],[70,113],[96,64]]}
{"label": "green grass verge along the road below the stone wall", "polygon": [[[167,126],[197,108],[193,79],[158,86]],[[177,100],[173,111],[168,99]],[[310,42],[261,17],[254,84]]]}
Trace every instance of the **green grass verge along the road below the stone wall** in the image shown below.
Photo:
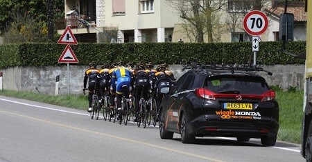
{"label": "green grass verge along the road below the stone wall", "polygon": [[[301,141],[301,122],[303,117],[302,101],[303,90],[295,92],[276,91],[276,99],[279,103],[279,134],[278,140],[291,143],[300,143]],[[0,90],[1,96],[15,97],[18,99],[27,99],[53,105],[60,105],[67,108],[76,108],[87,110],[87,95],[69,94],[69,95],[48,95],[35,92],[17,92],[14,90]]]}

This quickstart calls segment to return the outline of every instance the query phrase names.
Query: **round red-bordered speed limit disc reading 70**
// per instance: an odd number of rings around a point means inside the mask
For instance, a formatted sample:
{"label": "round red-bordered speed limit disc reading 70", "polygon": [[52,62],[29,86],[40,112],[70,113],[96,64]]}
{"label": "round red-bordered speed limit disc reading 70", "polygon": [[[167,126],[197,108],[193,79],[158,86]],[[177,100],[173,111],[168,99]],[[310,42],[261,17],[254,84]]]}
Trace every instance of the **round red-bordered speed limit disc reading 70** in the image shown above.
{"label": "round red-bordered speed limit disc reading 70", "polygon": [[243,26],[248,34],[259,36],[268,29],[268,17],[259,10],[253,10],[245,15]]}

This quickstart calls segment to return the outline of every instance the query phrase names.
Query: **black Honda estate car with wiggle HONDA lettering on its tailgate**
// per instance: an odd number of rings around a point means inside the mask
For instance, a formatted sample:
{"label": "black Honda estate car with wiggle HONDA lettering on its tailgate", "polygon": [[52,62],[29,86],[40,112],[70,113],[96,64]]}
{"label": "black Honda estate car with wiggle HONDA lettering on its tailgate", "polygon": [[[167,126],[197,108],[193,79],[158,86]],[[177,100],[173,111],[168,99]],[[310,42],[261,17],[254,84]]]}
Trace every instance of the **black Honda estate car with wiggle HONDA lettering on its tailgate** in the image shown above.
{"label": "black Honda estate car with wiggle HONDA lettering on its tailgate", "polygon": [[275,145],[279,105],[275,91],[254,71],[265,70],[211,66],[183,74],[160,104],[160,137],[178,133],[182,143],[194,143],[196,136],[257,138]]}

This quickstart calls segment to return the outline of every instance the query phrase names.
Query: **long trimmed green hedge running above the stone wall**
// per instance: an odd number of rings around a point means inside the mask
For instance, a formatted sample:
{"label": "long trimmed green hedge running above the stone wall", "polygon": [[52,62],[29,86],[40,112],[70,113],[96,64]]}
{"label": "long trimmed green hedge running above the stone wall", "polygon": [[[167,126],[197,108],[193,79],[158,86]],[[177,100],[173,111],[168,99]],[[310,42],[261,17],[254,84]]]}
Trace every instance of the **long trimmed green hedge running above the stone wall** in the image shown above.
{"label": "long trimmed green hedge running above the stone wall", "polygon": [[[281,42],[260,42],[257,64],[302,64],[281,52]],[[287,43],[288,52],[305,52],[306,42]],[[58,43],[22,43],[0,45],[0,68],[11,66],[62,65],[58,59],[66,45]],[[202,63],[247,64],[253,62],[252,43],[78,43],[71,45],[79,63],[112,63],[123,60],[137,63],[178,64],[182,59]],[[63,63],[64,64],[64,63]]]}

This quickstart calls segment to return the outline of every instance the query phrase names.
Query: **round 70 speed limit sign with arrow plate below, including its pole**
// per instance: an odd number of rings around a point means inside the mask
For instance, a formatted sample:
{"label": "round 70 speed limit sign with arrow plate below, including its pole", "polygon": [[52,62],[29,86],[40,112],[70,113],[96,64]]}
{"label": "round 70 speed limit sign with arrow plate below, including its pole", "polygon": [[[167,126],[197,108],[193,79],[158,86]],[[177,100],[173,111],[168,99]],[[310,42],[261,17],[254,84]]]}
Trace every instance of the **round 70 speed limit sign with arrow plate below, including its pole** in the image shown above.
{"label": "round 70 speed limit sign with arrow plate below, including its pole", "polygon": [[254,67],[257,65],[259,51],[259,36],[268,29],[268,17],[259,10],[253,10],[245,15],[243,20],[245,32],[252,35],[252,52],[254,52]]}

